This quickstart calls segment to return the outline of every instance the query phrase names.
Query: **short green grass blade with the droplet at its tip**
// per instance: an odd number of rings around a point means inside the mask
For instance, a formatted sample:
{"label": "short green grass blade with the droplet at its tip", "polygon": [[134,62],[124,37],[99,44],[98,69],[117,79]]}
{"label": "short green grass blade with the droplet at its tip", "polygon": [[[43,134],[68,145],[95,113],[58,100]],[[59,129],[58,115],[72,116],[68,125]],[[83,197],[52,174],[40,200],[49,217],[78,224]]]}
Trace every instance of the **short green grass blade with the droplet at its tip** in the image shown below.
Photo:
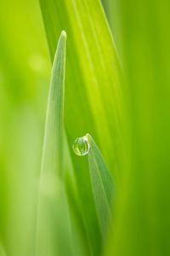
{"label": "short green grass blade with the droplet at its tip", "polygon": [[89,134],[87,137],[90,144],[88,165],[94,193],[94,201],[99,218],[99,227],[102,236],[105,239],[105,235],[108,231],[108,224],[111,222],[115,187],[111,172],[108,170],[99,148],[96,143],[94,143],[94,139]]}

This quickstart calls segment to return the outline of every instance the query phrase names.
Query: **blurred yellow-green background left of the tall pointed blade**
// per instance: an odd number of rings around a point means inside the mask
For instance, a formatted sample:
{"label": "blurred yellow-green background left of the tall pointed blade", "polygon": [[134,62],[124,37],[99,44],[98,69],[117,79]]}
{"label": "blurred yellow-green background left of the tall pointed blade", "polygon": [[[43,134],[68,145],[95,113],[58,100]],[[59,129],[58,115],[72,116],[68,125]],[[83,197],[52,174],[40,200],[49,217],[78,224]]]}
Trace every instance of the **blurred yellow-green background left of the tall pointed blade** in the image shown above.
{"label": "blurred yellow-green background left of the tall pointed blade", "polygon": [[0,3],[0,255],[32,255],[51,64],[37,1]]}

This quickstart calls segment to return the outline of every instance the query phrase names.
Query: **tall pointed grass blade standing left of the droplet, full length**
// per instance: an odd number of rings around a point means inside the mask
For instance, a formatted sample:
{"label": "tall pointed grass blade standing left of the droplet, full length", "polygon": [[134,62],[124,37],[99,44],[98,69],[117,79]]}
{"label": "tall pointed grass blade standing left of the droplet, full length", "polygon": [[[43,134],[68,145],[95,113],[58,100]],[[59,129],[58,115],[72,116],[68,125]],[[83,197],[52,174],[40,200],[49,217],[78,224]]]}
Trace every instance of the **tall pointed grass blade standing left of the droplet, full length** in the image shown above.
{"label": "tall pointed grass blade standing left of the droplet, full length", "polygon": [[36,255],[71,255],[68,208],[63,187],[66,34],[61,32],[54,56],[42,149],[37,209]]}

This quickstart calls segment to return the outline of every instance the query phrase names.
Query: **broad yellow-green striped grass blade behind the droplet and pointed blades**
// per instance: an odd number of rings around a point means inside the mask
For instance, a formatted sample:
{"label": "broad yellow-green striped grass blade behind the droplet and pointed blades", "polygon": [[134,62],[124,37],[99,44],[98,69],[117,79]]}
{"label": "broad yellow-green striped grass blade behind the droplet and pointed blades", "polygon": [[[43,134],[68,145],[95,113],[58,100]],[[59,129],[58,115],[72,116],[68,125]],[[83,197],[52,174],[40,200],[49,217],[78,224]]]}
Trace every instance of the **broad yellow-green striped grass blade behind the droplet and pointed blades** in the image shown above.
{"label": "broad yellow-green striped grass blade behind the droplet and pointed blades", "polygon": [[[121,85],[116,49],[102,6],[97,0],[40,3],[52,60],[60,30],[65,29],[69,38],[65,76],[65,130],[69,147],[88,131],[118,177],[123,161]],[[88,245],[92,255],[99,255],[102,237],[88,162],[86,158],[77,159],[72,148],[71,158]]]}

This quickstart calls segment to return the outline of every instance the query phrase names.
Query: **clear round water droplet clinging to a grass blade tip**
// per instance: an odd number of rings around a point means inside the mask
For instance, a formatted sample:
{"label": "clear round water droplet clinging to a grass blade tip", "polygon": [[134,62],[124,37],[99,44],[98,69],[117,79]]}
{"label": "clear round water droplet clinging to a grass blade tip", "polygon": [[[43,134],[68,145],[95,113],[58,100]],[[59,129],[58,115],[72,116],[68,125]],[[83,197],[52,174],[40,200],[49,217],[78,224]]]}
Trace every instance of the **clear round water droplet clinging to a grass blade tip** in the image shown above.
{"label": "clear round water droplet clinging to a grass blade tip", "polygon": [[86,136],[78,137],[72,145],[74,153],[77,155],[88,154],[90,150],[90,144],[88,143],[88,138]]}

